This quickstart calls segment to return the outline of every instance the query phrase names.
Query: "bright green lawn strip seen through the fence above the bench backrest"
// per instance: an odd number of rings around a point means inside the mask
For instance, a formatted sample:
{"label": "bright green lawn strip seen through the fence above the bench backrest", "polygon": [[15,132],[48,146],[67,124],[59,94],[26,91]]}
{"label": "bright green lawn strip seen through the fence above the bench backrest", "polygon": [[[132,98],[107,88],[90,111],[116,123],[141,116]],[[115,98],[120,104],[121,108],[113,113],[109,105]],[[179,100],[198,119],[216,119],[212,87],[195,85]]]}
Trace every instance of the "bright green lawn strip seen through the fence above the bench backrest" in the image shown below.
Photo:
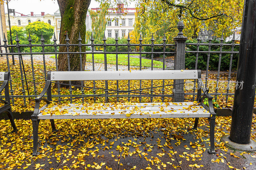
{"label": "bright green lawn strip seen through the fence above the bench backrest", "polygon": [[[52,55],[51,58],[55,58],[55,55]],[[86,55],[86,61],[92,62],[92,54]],[[94,54],[94,62],[95,63],[104,63],[104,54]],[[108,64],[116,64],[116,55],[115,54],[107,54],[107,63]],[[119,54],[118,55],[118,64],[128,65],[127,54]],[[140,66],[140,58],[130,57],[130,65],[131,66]],[[151,67],[151,60],[142,58],[141,66],[142,67]],[[153,67],[163,68],[163,62],[154,60]]]}

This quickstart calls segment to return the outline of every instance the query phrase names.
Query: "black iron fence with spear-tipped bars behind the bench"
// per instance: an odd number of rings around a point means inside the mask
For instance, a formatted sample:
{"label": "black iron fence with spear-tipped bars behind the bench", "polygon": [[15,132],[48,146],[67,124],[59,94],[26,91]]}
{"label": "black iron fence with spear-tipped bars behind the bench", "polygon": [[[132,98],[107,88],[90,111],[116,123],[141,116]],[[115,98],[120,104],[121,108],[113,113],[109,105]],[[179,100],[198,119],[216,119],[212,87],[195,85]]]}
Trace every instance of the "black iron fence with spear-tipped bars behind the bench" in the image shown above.
{"label": "black iron fence with spear-tipped bars behind the bench", "polygon": [[[216,77],[216,86],[215,86],[215,92],[212,92],[211,94],[212,95],[215,95],[217,97],[217,95],[226,95],[226,99],[228,100],[228,96],[230,95],[234,95],[233,93],[230,93],[229,90],[230,90],[230,78],[231,78],[231,71],[232,71],[232,57],[234,54],[237,54],[238,51],[234,51],[234,47],[236,46],[239,46],[239,44],[235,44],[235,39],[233,38],[232,40],[232,43],[231,44],[226,44],[224,43],[224,40],[223,40],[223,37],[220,39],[220,43],[212,43],[212,39],[210,38],[209,39],[209,43],[200,43],[200,35],[198,36],[197,38],[197,43],[186,43],[187,41],[187,37],[185,37],[182,33],[182,30],[184,28],[184,25],[182,22],[179,22],[178,23],[178,30],[179,30],[179,33],[176,37],[174,37],[174,41],[175,41],[175,44],[166,44],[166,38],[165,36],[163,37],[163,43],[162,44],[155,44],[154,43],[154,37],[153,37],[153,34],[152,34],[152,38],[151,38],[151,44],[142,44],[142,36],[140,35],[140,43],[139,44],[131,44],[130,41],[130,37],[128,35],[128,38],[127,38],[127,44],[118,44],[118,38],[116,37],[115,41],[116,43],[115,44],[107,44],[106,41],[106,37],[104,35],[104,38],[103,38],[103,44],[94,44],[94,39],[93,39],[93,35],[91,36],[91,44],[82,44],[82,39],[80,37],[80,34],[79,34],[79,37],[78,37],[78,43],[77,44],[69,44],[69,38],[68,38],[68,34],[66,36],[66,44],[57,44],[57,39],[55,37],[55,34],[54,34],[54,38],[53,38],[53,44],[44,44],[44,37],[42,35],[42,38],[41,38],[41,44],[32,44],[32,40],[29,36],[28,38],[28,44],[20,44],[19,43],[19,37],[17,36],[15,41],[16,41],[16,45],[7,45],[7,40],[4,36],[4,44],[3,45],[0,45],[0,47],[2,48],[5,48],[5,51],[6,53],[0,53],[0,55],[5,55],[6,56],[6,62],[7,62],[7,68],[8,68],[8,71],[11,71],[10,70],[10,63],[9,63],[9,57],[11,55],[18,55],[18,58],[19,58],[19,72],[20,72],[20,82],[21,82],[21,86],[22,86],[22,89],[21,89],[21,92],[22,94],[19,94],[19,95],[14,95],[14,92],[15,90],[20,90],[18,88],[13,88],[13,83],[12,83],[12,77],[10,77],[9,79],[9,83],[10,83],[10,93],[11,93],[11,98],[12,98],[12,103],[15,104],[15,98],[23,98],[23,101],[24,101],[24,105],[26,106],[27,104],[27,99],[30,100],[30,98],[35,98],[37,95],[38,95],[38,88],[37,88],[37,80],[36,80],[36,76],[35,76],[35,69],[34,69],[34,57],[37,56],[37,55],[42,55],[42,63],[43,63],[43,73],[44,73],[44,80],[46,80],[46,76],[47,76],[47,65],[46,65],[46,61],[45,61],[45,55],[54,55],[55,56],[55,66],[56,66],[56,71],[58,71],[58,55],[59,54],[64,54],[67,56],[67,59],[68,59],[68,68],[70,70],[70,55],[71,54],[77,54],[79,55],[80,57],[80,65],[82,66],[82,55],[83,54],[91,54],[92,55],[92,71],[96,71],[95,70],[95,60],[94,60],[94,55],[95,54],[103,54],[104,55],[104,70],[107,70],[107,55],[108,54],[115,54],[116,55],[116,70],[118,70],[119,68],[119,65],[118,65],[118,55],[120,54],[126,54],[127,55],[127,61],[128,61],[128,70],[130,70],[130,56],[131,55],[139,55],[139,59],[140,59],[140,66],[139,66],[139,70],[142,70],[142,55],[143,54],[146,54],[146,55],[150,55],[151,56],[151,67],[150,67],[150,70],[153,70],[154,68],[154,57],[155,55],[159,56],[159,55],[162,55],[162,62],[163,62],[163,67],[162,69],[165,70],[165,58],[166,56],[170,56],[170,55],[174,55],[174,69],[175,70],[182,70],[182,69],[185,69],[185,54],[186,53],[193,53],[193,54],[196,54],[196,59],[195,59],[195,69],[197,69],[198,67],[198,56],[201,54],[201,53],[204,53],[204,54],[207,54],[207,64],[206,64],[206,73],[205,73],[205,86],[207,87],[208,86],[208,75],[209,75],[209,59],[211,58],[211,55],[212,54],[219,54],[219,63],[218,63],[218,70],[217,70],[217,77]],[[79,48],[79,51],[70,51],[70,47],[71,46],[76,46]],[[112,51],[112,52],[109,52],[107,51],[107,47],[109,46],[114,46],[116,48],[116,51]],[[122,46],[125,46],[127,47],[127,51],[124,52],[120,52],[118,50],[119,47],[122,47]],[[188,47],[189,46],[196,46],[196,50],[195,51],[189,51],[189,50],[186,50],[186,49],[189,49]],[[208,46],[208,51],[200,51],[199,50],[199,47],[200,46]],[[212,46],[218,46],[220,47],[220,50],[219,51],[211,51],[211,47]],[[222,51],[222,48],[224,46],[228,46],[230,47],[230,51]],[[17,50],[17,52],[8,52],[8,48],[15,48]],[[32,48],[34,47],[41,47],[42,48],[42,52],[32,52]],[[48,52],[45,50],[46,47],[52,47],[54,48],[54,52]],[[58,48],[59,47],[64,47],[66,48],[66,51],[65,52],[59,52],[58,51]],[[91,48],[90,51],[83,51],[82,48],[83,47],[89,47]],[[103,51],[95,51],[95,47],[101,47],[103,48]],[[137,47],[138,50],[135,50],[135,51],[132,51],[132,47]],[[148,52],[148,51],[145,51],[144,48],[145,47],[150,47],[151,48],[151,51]],[[154,48],[155,47],[161,47],[163,49],[163,51],[159,52],[155,52],[154,51]],[[174,51],[166,51],[166,48],[174,48]],[[21,48],[29,48],[29,52],[21,52]],[[225,80],[227,82],[227,87],[226,87],[226,92],[225,93],[220,93],[218,90],[219,90],[219,82],[220,82],[220,65],[221,65],[221,56],[223,54],[230,54],[230,64],[229,64],[229,70],[228,70],[228,78]],[[24,55],[28,55],[30,56],[30,59],[31,59],[31,70],[25,70],[24,69],[24,62],[23,62],[23,57]],[[82,67],[81,67],[82,69]],[[235,68],[233,68],[235,69]],[[27,72],[32,72],[32,79],[27,79],[26,78],[26,73]],[[11,71],[11,75],[12,75],[12,71]],[[28,83],[27,82],[33,82],[33,88],[34,88],[34,91],[32,92],[33,94],[30,94],[29,93],[29,90],[28,90]],[[174,80],[174,83],[182,83],[183,81],[181,80]],[[82,85],[83,85],[83,82],[81,82]],[[163,80],[162,81],[162,85],[164,86],[164,83],[165,81]],[[95,89],[92,90],[93,92],[93,95],[94,95],[94,102],[96,101],[96,84],[95,84],[95,81],[93,81],[93,87]],[[151,87],[153,87],[153,80],[151,81]],[[71,88],[70,86],[70,89],[69,89],[69,94],[60,94],[60,86],[58,85],[58,90],[57,90],[57,94],[53,95],[53,97],[58,97],[59,99],[61,97],[76,97],[77,95],[76,94],[73,94],[72,91],[73,89]],[[105,82],[105,88],[108,89],[108,82],[106,81]],[[141,80],[140,80],[140,89],[142,88],[142,84],[141,84]],[[116,90],[119,90],[119,82],[116,81]],[[131,85],[130,85],[130,81],[128,81],[128,84],[127,84],[127,90],[131,90]],[[162,88],[162,95],[166,95],[165,94],[165,89],[164,87]],[[154,89],[152,88],[150,90],[150,93],[153,94],[154,92]],[[176,97],[179,97],[180,94],[183,93],[184,94],[184,85],[175,85],[174,86],[174,89],[172,91],[172,96],[176,96]],[[81,94],[84,95],[86,97],[86,95],[89,95],[89,96],[92,96],[92,94],[85,94],[84,92],[84,89],[81,88]],[[170,96],[170,94],[168,94]],[[196,95],[196,84],[194,84],[194,87],[192,89],[192,92],[185,92],[185,95],[193,95],[193,98],[195,99],[195,95]],[[3,97],[3,96],[1,96]],[[151,102],[152,102],[152,96],[147,96],[147,95],[141,95],[141,94],[136,94],[136,95],[131,95],[130,93],[125,95],[119,95],[119,96],[116,96],[116,95],[109,95],[109,97],[127,97],[128,100],[130,101],[130,98],[131,97],[139,97],[140,101],[141,101],[141,98],[142,97],[150,97],[151,99]],[[226,101],[227,101],[226,100]],[[117,101],[118,101],[118,98],[117,98]],[[164,97],[162,97],[162,101],[164,101]]]}

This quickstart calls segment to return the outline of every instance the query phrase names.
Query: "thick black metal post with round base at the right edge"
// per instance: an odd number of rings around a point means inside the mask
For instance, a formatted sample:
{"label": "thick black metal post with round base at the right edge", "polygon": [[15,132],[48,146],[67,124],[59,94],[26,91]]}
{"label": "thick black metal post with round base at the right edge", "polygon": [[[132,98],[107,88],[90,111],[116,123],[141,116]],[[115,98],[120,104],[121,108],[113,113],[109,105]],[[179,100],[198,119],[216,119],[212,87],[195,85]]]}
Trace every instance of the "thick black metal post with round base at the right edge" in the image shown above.
{"label": "thick black metal post with round base at the right edge", "polygon": [[230,136],[222,137],[228,147],[256,151],[251,139],[256,80],[256,1],[244,0],[236,87]]}

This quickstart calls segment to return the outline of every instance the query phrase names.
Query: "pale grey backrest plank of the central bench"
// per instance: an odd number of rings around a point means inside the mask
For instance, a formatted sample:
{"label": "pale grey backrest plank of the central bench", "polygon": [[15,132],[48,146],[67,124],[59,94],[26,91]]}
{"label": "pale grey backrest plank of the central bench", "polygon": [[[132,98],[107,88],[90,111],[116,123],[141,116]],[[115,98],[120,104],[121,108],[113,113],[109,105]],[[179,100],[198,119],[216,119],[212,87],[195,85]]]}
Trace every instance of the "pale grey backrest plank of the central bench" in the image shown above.
{"label": "pale grey backrest plank of the central bench", "polygon": [[51,71],[50,74],[51,81],[174,80],[201,78],[201,70]]}

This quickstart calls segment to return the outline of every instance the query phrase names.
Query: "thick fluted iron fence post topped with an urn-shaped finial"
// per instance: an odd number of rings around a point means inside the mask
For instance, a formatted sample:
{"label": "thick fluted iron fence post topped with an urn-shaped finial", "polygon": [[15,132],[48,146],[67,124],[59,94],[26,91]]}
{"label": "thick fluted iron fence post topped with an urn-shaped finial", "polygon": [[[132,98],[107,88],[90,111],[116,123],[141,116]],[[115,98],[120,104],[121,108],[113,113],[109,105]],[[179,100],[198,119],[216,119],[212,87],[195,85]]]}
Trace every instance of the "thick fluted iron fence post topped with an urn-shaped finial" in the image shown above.
{"label": "thick fluted iron fence post topped with an urn-shaped finial", "polygon": [[[188,40],[187,37],[185,37],[182,33],[182,30],[184,29],[184,24],[182,21],[178,22],[178,30],[179,33],[177,37],[174,38],[176,47],[175,47],[175,55],[174,55],[174,70],[183,70],[185,69],[185,47],[186,47],[186,40]],[[173,80],[173,84],[178,84],[173,86],[173,97],[172,102],[184,102],[184,80]]]}

